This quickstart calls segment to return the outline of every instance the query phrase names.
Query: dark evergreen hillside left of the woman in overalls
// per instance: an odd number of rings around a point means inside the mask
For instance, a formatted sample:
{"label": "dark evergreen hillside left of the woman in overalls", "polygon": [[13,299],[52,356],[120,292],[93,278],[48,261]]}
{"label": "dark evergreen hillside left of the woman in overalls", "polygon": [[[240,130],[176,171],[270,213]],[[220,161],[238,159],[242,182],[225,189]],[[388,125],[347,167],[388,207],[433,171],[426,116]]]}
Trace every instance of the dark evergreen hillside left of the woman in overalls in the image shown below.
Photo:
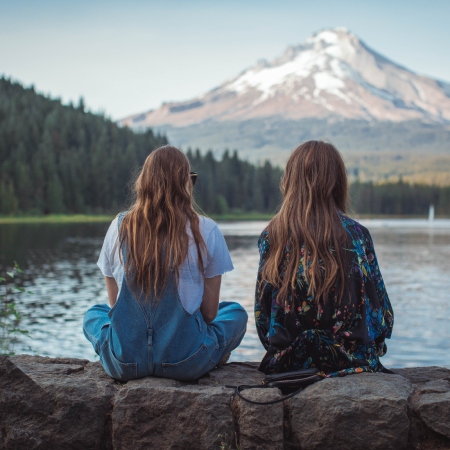
{"label": "dark evergreen hillside left of the woman in overalls", "polygon": [[0,78],[0,213],[117,211],[131,170],[166,143]]}

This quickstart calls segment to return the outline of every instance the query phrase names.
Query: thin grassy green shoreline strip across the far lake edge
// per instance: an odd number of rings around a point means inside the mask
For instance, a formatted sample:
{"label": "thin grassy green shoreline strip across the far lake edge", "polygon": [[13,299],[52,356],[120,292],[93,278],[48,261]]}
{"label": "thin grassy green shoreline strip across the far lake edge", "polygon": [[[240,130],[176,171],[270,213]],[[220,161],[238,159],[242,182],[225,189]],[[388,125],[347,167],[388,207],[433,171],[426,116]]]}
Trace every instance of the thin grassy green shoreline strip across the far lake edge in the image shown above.
{"label": "thin grassy green shoreline strip across the far lake edge", "polygon": [[[424,215],[380,215],[380,214],[349,214],[356,220],[360,219],[427,219]],[[49,214],[46,216],[4,216],[0,217],[1,224],[33,224],[33,223],[95,223],[110,222],[115,215],[88,215],[88,214]],[[273,214],[264,213],[228,213],[211,214],[215,221],[269,221]],[[448,216],[438,216],[436,219],[449,219]]]}

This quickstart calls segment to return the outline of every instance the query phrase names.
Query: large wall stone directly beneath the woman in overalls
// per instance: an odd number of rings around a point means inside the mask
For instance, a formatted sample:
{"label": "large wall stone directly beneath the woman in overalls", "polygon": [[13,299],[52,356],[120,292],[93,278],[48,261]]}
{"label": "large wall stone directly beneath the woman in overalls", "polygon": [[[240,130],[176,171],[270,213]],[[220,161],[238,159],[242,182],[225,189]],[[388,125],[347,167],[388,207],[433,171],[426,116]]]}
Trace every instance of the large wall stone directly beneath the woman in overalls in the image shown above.
{"label": "large wall stone directly beneath the woman in overalls", "polygon": [[148,378],[122,387],[113,406],[113,448],[214,449],[220,435],[234,435],[231,389],[177,383]]}

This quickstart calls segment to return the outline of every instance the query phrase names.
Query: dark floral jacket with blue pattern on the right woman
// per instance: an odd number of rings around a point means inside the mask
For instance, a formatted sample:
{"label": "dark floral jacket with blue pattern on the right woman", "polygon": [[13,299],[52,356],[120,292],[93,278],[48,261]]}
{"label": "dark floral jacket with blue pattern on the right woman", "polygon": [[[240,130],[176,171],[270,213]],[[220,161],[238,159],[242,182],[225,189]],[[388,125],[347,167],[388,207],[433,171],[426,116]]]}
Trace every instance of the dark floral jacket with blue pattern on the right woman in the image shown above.
{"label": "dark floral jacket with blue pattern on the right woman", "polygon": [[[386,353],[394,314],[369,231],[340,214],[351,243],[346,294],[317,305],[308,296],[304,257],[299,262],[297,284],[286,306],[276,302],[278,290],[261,281],[270,250],[267,230],[259,238],[260,263],[255,295],[258,336],[267,350],[260,370],[279,373],[317,367],[327,376],[385,370],[379,357]],[[284,251],[289,258],[289,246]]]}

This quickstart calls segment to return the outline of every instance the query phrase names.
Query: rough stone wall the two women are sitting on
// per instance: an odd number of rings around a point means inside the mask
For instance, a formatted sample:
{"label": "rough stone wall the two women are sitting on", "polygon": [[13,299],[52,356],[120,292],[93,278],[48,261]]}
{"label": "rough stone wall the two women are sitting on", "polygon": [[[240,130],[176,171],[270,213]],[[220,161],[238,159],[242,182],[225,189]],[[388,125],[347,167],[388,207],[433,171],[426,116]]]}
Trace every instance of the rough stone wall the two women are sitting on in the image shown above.
{"label": "rough stone wall the two women are sitting on", "polygon": [[230,363],[195,383],[121,384],[98,362],[1,357],[0,449],[450,449],[448,369],[326,379],[270,406],[225,387],[259,384],[256,369]]}

